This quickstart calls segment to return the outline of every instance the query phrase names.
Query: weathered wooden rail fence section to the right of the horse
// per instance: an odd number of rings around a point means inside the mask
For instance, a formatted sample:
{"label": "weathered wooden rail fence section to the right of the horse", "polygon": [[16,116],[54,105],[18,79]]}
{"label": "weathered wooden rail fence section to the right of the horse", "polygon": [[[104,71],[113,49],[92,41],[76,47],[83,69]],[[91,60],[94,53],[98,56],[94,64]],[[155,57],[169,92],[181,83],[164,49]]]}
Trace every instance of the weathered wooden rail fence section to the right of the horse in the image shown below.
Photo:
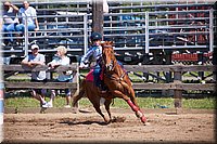
{"label": "weathered wooden rail fence section to the right of the horse", "polygon": [[[159,73],[167,71],[174,77],[168,83],[133,82],[137,90],[174,90],[175,107],[181,107],[183,90],[215,91],[217,66],[212,65],[125,65],[127,71]],[[186,71],[212,71],[215,83],[183,83],[182,74]],[[157,76],[156,76],[157,77]],[[159,78],[159,77],[158,77]],[[165,80],[166,81],[166,80]]]}

